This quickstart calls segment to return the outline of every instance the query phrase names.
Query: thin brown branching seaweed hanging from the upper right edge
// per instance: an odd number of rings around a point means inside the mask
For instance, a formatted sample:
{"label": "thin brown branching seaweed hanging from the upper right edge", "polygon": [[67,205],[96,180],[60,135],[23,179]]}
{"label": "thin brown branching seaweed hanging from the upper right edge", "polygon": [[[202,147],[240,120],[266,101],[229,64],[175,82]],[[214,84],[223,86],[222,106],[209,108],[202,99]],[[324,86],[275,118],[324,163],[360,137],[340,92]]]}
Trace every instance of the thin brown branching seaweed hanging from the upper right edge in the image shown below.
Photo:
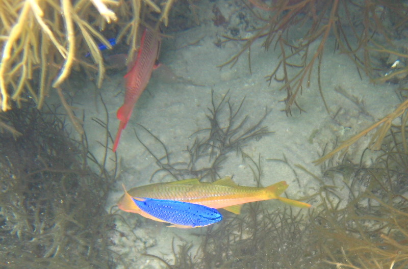
{"label": "thin brown branching seaweed hanging from the upper right edge", "polygon": [[328,42],[334,42],[335,50],[349,57],[360,76],[364,72],[373,82],[394,79],[398,82],[407,75],[408,54],[399,39],[408,23],[408,6],[401,1],[275,0],[268,5],[248,0],[244,3],[261,26],[251,31],[248,38],[225,36],[224,42],[244,44],[221,67],[234,65],[248,51],[251,70],[251,47],[258,39],[262,40],[265,50],[278,50],[280,59],[271,67],[267,80],[282,82],[279,90],[286,90],[287,114],[293,105],[302,111],[297,96],[304,87],[310,87],[314,79],[324,106],[331,113],[320,77]]}

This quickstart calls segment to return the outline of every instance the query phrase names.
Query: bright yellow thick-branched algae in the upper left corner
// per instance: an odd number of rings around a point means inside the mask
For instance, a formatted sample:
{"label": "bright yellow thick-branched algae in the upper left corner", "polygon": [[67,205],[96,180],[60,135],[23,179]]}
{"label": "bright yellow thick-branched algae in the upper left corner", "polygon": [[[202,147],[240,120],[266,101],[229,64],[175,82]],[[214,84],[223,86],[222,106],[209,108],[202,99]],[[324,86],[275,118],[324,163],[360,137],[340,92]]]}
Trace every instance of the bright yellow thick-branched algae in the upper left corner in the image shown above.
{"label": "bright yellow thick-branched algae in the upper left corner", "polygon": [[29,98],[41,108],[50,88],[61,87],[73,68],[94,74],[100,87],[105,66],[98,43],[112,47],[102,31],[126,35],[134,51],[142,14],[161,13],[168,23],[173,1],[160,4],[163,12],[151,0],[0,0],[0,110]]}

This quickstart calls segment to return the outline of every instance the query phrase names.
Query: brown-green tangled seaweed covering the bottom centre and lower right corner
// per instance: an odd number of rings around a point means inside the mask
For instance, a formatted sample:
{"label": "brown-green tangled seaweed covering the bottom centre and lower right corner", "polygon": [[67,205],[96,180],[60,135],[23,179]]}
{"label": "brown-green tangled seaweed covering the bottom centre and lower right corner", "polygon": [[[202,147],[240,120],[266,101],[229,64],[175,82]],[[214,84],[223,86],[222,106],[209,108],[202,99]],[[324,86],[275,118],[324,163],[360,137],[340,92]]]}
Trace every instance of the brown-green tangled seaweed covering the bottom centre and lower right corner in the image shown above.
{"label": "brown-green tangled seaweed covering the bottom centre and lower right corner", "polygon": [[[314,204],[309,211],[250,203],[209,227],[196,252],[184,241],[173,246],[172,262],[149,256],[180,269],[406,268],[408,128],[402,122],[390,127],[370,166],[345,158],[335,167],[325,163],[323,177],[310,174],[319,189],[308,198]],[[261,162],[249,162],[259,183]]]}

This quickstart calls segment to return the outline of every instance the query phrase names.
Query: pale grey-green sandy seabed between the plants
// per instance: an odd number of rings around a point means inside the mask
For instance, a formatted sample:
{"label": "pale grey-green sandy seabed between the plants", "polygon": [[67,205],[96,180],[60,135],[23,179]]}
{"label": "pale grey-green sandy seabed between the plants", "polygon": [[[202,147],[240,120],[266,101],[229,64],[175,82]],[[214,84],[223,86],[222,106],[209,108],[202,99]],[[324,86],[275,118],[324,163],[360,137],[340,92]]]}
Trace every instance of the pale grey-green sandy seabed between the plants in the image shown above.
{"label": "pale grey-green sandy seabed between the plants", "polygon": [[[210,7],[207,9],[211,10],[210,2],[200,3],[199,8],[205,10],[206,5]],[[286,180],[289,184],[287,195],[292,199],[313,193],[316,190],[316,181],[301,170],[296,170],[296,177],[291,166],[300,165],[312,173],[320,174],[320,168],[313,165],[312,161],[319,157],[326,145],[333,147],[337,138],[344,141],[392,112],[399,104],[395,93],[396,85],[373,85],[366,76],[361,79],[346,55],[333,53],[334,38],[330,37],[321,66],[321,84],[331,115],[325,110],[317,87],[317,77],[313,76],[310,87],[304,87],[302,95],[297,99],[305,112],[299,113],[299,110],[293,107],[292,116],[288,117],[282,111],[285,109],[285,103],[281,101],[286,98],[286,91],[277,90],[282,87],[282,83],[272,81],[269,85],[265,79],[278,63],[278,53],[273,50],[265,51],[261,39],[251,47],[252,74],[249,72],[245,54],[233,67],[218,68],[218,65],[238,52],[242,43],[227,42],[217,47],[215,43],[220,34],[224,34],[225,29],[215,26],[210,13],[207,15],[209,17],[203,19],[200,26],[184,32],[170,33],[174,38],[163,40],[160,57],[163,66],[155,71],[156,74],[152,76],[147,89],[137,102],[132,118],[122,133],[117,150],[121,174],[116,189],[112,190],[109,206],[115,205],[123,194],[121,184],[127,189],[149,184],[151,176],[159,169],[154,156],[137,140],[135,131],[156,156],[164,156],[165,151],[160,143],[152,139],[139,124],[166,145],[172,163],[188,162],[186,149],[194,142],[195,136],[192,134],[210,127],[207,115],[210,113],[208,108],[212,105],[212,90],[217,103],[228,93],[228,98],[235,107],[238,107],[245,97],[240,119],[247,115],[248,123],[258,122],[265,114],[265,109],[271,110],[262,126],[266,126],[273,133],[249,141],[242,150],[254,160],[260,157],[264,186]],[[206,16],[206,13],[202,16]],[[317,44],[312,44],[311,49],[316,46]],[[174,77],[176,79],[173,79]],[[336,88],[341,88],[349,96],[360,100],[360,106],[335,91]],[[116,111],[121,106],[124,95],[123,73],[107,77],[100,93],[107,104],[109,130],[114,136],[119,124]],[[99,137],[103,138],[104,130],[91,119],[96,117],[105,120],[103,105],[95,97],[94,86],[81,91],[80,95],[75,103],[83,105],[85,111],[85,131],[90,151],[101,156],[104,154],[104,148],[97,141]],[[333,115],[338,111],[333,119]],[[364,138],[357,146],[350,148],[350,156],[353,157],[354,154],[359,158],[369,139],[370,137]],[[256,183],[250,163],[235,153],[228,156],[218,173],[222,176],[233,176],[238,184],[254,186]],[[289,166],[268,160],[284,157],[287,158]],[[157,174],[154,180],[166,182],[173,181],[174,178],[161,173]],[[169,228],[163,223],[144,220],[136,214],[119,213],[129,226],[118,221],[117,230],[122,234],[113,235],[115,245],[112,250],[121,254],[125,262],[133,268],[164,267],[160,261],[141,257],[140,253],[147,252],[171,259],[173,238],[175,246],[183,240],[197,245],[200,237],[192,233],[206,232],[206,228]],[[194,248],[192,251],[194,252]]]}

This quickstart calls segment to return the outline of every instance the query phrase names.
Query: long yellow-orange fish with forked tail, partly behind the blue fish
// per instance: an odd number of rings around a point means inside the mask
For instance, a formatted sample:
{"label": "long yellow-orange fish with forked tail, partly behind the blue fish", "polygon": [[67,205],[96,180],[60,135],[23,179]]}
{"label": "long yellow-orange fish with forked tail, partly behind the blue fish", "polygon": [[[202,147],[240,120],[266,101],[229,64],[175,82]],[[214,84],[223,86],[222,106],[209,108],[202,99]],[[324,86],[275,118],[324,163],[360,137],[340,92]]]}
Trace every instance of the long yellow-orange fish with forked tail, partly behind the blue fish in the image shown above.
{"label": "long yellow-orange fish with forked tail, partly behind the blue fish", "polygon": [[186,179],[168,183],[156,183],[135,187],[119,200],[118,206],[126,212],[139,213],[131,197],[148,197],[200,204],[211,208],[224,208],[239,214],[244,203],[278,199],[299,207],[310,204],[280,197],[288,187],[281,181],[268,187],[239,186],[230,177],[224,177],[213,183],[200,182],[198,179]]}

